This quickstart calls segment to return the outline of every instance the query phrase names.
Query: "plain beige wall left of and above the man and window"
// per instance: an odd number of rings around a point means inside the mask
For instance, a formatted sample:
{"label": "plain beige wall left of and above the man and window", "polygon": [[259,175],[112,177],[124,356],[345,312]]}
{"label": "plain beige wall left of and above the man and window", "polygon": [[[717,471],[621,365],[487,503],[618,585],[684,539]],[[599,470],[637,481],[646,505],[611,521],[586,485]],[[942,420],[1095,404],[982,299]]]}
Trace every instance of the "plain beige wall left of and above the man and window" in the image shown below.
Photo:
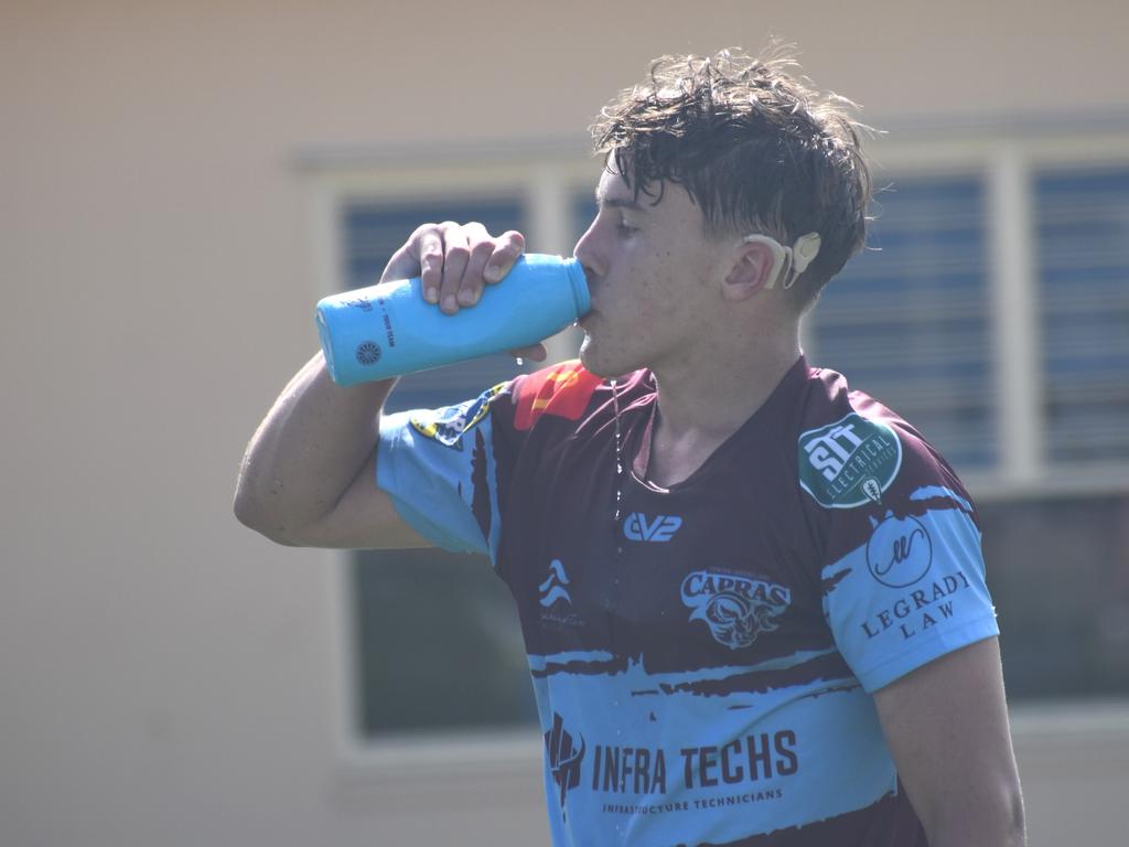
{"label": "plain beige wall left of and above the man and window", "polygon": [[[335,560],[230,515],[316,344],[299,152],[580,139],[653,54],[768,30],[879,125],[1124,116],[1127,23],[1113,0],[0,3],[0,842],[450,826],[343,763]],[[461,842],[540,838],[536,763],[493,767],[411,779]]]}

